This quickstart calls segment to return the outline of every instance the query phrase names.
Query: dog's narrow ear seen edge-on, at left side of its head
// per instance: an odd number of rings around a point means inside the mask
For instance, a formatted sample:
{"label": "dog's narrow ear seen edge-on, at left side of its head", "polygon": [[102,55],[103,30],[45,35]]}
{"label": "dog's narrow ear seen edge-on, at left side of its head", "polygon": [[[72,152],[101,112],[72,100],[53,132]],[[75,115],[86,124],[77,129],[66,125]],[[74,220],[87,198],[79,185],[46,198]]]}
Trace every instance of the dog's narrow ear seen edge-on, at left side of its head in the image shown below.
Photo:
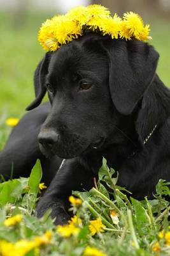
{"label": "dog's narrow ear seen edge-on, at left side of its head", "polygon": [[34,90],[36,94],[36,99],[26,108],[26,110],[31,110],[39,106],[43,97],[46,93],[45,87],[45,77],[48,73],[48,64],[50,62],[50,54],[47,52],[43,60],[41,60],[34,72]]}

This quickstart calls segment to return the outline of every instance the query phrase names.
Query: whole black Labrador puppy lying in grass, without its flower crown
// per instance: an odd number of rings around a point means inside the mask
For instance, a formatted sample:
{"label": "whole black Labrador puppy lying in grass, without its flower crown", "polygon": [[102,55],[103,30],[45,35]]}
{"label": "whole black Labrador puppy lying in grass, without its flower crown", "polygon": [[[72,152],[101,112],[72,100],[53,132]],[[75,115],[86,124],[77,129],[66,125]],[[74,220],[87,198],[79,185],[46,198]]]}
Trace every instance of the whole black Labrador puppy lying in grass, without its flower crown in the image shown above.
{"label": "whole black Labrador puppy lying in grass, without its flower crown", "polygon": [[66,222],[68,196],[92,188],[103,156],[135,198],[152,198],[158,180],[170,180],[170,91],[155,74],[158,59],[144,42],[95,33],[46,53],[34,76],[36,100],[27,109],[36,108],[46,90],[50,103],[20,120],[0,154],[6,177],[11,163],[18,177],[41,159],[43,180],[52,182],[38,216],[52,208],[56,223]]}

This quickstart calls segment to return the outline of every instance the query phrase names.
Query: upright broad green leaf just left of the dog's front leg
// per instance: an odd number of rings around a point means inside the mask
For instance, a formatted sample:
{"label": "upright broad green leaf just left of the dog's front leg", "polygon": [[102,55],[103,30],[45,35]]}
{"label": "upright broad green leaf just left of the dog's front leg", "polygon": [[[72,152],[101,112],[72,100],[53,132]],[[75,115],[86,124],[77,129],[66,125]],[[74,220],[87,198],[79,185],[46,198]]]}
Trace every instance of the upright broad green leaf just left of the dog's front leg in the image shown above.
{"label": "upright broad green leaf just left of the dog's front leg", "polygon": [[34,165],[31,175],[29,177],[28,186],[30,187],[30,193],[38,195],[39,190],[39,182],[42,178],[42,170],[41,170],[41,163],[39,159],[36,161],[36,164]]}

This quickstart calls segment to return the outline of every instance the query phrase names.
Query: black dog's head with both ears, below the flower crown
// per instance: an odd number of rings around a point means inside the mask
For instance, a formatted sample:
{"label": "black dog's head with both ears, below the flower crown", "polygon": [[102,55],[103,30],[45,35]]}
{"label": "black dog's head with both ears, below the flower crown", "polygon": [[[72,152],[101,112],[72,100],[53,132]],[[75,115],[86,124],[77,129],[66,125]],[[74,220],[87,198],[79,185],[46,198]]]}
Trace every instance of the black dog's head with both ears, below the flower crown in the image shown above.
{"label": "black dog's head with both ears, below the flower crown", "polygon": [[41,151],[71,158],[111,143],[121,117],[132,115],[152,83],[158,58],[144,42],[95,33],[46,53],[27,108],[38,106],[47,90],[52,109],[39,133]]}

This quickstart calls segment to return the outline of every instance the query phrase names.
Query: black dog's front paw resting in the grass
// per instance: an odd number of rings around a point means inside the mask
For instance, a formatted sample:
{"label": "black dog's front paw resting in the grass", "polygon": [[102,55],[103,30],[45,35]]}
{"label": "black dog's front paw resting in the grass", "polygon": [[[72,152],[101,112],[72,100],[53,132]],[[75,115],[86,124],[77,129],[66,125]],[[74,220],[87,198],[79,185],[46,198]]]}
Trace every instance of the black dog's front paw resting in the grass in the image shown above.
{"label": "black dog's front paw resting in the grass", "polygon": [[36,207],[38,218],[41,218],[48,209],[52,209],[51,217],[52,219],[54,219],[55,225],[67,224],[70,216],[67,213],[66,209],[64,209],[64,204],[57,201],[51,201],[50,198],[47,202],[46,200],[44,200],[44,198],[41,198]]}

